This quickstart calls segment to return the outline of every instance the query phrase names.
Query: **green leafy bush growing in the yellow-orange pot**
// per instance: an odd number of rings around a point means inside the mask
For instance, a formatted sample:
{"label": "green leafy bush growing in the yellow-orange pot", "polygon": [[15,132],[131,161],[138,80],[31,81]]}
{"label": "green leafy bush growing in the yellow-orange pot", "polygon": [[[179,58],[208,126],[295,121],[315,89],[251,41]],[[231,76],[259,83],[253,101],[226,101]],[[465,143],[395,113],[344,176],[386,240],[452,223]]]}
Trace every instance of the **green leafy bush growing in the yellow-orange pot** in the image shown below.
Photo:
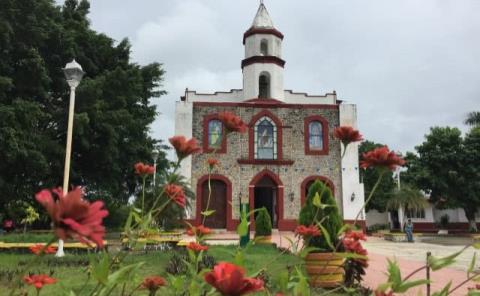
{"label": "green leafy bush growing in the yellow-orange pot", "polygon": [[[326,206],[315,206],[313,201],[315,195],[320,196],[320,204]],[[313,237],[308,241],[307,247],[316,247],[324,251],[331,251],[331,246],[338,244],[338,233],[343,225],[343,220],[335,202],[332,191],[325,183],[316,180],[309,188],[307,199],[300,210],[299,224],[310,226],[320,222],[323,235]],[[325,233],[327,235],[325,235]],[[328,238],[326,239],[326,237]]]}

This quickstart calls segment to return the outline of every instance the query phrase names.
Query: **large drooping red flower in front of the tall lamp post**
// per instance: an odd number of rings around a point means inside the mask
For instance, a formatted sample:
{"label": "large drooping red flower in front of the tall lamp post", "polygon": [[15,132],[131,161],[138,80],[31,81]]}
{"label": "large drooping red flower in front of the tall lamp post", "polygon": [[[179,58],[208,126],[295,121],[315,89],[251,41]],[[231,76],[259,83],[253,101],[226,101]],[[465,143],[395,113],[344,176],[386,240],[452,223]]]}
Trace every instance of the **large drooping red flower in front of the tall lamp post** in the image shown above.
{"label": "large drooping red flower in front of the tall lamp post", "polygon": [[72,237],[87,244],[94,242],[99,247],[103,247],[105,227],[102,225],[102,220],[108,216],[108,211],[102,209],[103,202],[89,203],[84,200],[80,187],[66,195],[63,195],[61,189],[52,191],[57,196],[55,200],[51,192],[46,189],[37,193],[35,198],[50,215],[57,237],[63,240]]}

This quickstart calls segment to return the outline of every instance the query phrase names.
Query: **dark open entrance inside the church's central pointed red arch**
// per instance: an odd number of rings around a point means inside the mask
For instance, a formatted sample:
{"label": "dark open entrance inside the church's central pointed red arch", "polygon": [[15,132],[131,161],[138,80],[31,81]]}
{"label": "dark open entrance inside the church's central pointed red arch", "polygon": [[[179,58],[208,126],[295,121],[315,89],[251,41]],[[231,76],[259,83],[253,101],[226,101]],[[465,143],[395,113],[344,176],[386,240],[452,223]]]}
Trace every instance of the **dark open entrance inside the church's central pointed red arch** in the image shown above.
{"label": "dark open entrance inside the church's central pointed red arch", "polygon": [[[278,228],[277,184],[268,176],[264,176],[255,184],[254,209],[267,209],[272,219],[272,228]],[[257,213],[255,213],[255,217]]]}

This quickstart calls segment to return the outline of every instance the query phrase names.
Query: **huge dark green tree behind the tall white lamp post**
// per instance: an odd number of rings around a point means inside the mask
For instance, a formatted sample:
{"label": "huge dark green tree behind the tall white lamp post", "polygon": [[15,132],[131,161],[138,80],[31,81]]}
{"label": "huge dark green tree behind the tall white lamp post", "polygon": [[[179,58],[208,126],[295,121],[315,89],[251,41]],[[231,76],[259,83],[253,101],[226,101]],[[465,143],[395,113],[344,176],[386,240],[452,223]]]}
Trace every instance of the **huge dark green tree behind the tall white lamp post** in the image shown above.
{"label": "huge dark green tree behind the tall white lamp post", "polygon": [[[0,2],[0,212],[31,201],[63,178],[73,57],[87,73],[77,88],[71,184],[107,202],[137,189],[133,164],[150,160],[149,136],[161,90],[160,64],[130,62],[130,44],[90,29],[88,1]],[[165,167],[164,154],[158,166]]]}

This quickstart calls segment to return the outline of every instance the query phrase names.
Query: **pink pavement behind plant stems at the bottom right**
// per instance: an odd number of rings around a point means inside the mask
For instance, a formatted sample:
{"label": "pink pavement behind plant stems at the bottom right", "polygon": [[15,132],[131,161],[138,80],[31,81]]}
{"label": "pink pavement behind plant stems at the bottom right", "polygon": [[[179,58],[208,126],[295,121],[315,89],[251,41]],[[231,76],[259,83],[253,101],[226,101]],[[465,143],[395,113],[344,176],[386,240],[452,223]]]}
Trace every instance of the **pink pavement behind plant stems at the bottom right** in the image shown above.
{"label": "pink pavement behind plant stems at the bottom right", "polygon": [[[377,254],[368,254],[369,258],[369,267],[367,269],[367,274],[364,277],[364,285],[375,289],[378,284],[386,281],[387,276],[385,275],[387,267],[387,258],[386,256],[377,255]],[[390,258],[391,260],[393,258]],[[397,258],[397,262],[400,265],[400,270],[402,271],[402,276],[405,277],[412,271],[422,267],[422,262],[404,260]],[[445,268],[436,272],[430,272],[430,279],[432,280],[431,284],[431,294],[435,291],[440,291],[449,281],[452,281],[451,288],[460,284],[466,279],[466,272],[460,271],[453,268]],[[422,279],[425,278],[425,271],[420,271],[418,274],[412,277],[412,279]],[[449,295],[463,296],[467,295],[468,286],[473,286],[473,283],[469,283],[466,286],[463,286]],[[422,292],[419,294],[419,290]],[[402,294],[408,296],[416,295],[426,295],[426,286],[421,286],[419,288],[413,288],[410,292]]]}

